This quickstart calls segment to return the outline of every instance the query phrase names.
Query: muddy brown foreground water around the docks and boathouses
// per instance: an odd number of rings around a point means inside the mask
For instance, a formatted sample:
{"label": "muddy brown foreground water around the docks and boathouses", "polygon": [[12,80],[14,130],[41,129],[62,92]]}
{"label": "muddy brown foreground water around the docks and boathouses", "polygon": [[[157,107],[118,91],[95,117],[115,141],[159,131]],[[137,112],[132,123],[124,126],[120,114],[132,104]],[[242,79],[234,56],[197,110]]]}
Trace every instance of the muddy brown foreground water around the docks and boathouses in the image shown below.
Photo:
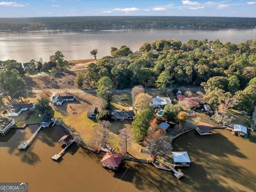
{"label": "muddy brown foreground water around the docks and boathouses", "polygon": [[[62,148],[66,134],[61,126],[39,132],[26,151],[17,149],[37,125],[12,130],[0,137],[0,182],[28,182],[30,192],[51,191],[255,191],[256,137],[235,137],[226,130],[200,137],[194,131],[174,140],[174,149],[188,151],[193,162],[181,169],[185,178],[157,170],[148,164],[127,162],[129,170],[113,173],[103,169],[102,156],[72,145],[60,162],[51,156]],[[86,128],[85,128],[86,129]],[[121,179],[122,178],[122,179]]]}

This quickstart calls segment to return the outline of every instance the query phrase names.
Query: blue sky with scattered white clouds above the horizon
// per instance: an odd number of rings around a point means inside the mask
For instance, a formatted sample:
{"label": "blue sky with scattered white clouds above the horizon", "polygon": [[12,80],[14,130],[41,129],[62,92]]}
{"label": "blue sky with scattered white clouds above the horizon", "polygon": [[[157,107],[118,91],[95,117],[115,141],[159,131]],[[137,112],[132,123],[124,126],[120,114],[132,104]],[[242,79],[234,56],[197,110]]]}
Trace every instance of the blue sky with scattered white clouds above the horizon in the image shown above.
{"label": "blue sky with scattered white clouds above the horizon", "polygon": [[256,17],[256,0],[0,0],[0,17],[97,15]]}

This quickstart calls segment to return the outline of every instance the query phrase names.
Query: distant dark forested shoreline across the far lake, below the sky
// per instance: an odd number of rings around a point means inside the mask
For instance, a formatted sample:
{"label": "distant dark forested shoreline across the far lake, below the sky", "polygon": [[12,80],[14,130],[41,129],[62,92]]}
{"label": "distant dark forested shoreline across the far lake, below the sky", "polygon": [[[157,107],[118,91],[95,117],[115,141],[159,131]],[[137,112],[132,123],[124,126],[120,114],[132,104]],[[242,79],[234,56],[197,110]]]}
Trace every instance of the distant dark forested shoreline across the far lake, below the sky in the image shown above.
{"label": "distant dark forested shoreline across the far lake, below the sky", "polygon": [[0,30],[115,28],[253,28],[256,18],[227,17],[44,17],[0,18]]}

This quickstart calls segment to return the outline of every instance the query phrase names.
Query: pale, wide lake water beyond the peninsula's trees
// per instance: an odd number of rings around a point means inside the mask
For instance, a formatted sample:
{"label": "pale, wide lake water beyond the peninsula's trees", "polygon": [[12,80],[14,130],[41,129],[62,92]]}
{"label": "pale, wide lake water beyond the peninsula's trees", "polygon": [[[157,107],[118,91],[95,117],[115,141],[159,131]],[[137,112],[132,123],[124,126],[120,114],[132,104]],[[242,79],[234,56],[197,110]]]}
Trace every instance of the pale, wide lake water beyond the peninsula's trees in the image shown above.
{"label": "pale, wide lake water beyond the peninsula's trees", "polygon": [[241,43],[256,38],[256,29],[223,30],[98,30],[98,31],[34,31],[26,33],[0,33],[0,60],[14,59],[28,62],[31,59],[48,61],[50,55],[61,51],[67,60],[92,58],[90,51],[98,49],[98,58],[110,55],[110,47],[129,46],[132,51],[144,42],[156,39],[220,39],[222,42]]}

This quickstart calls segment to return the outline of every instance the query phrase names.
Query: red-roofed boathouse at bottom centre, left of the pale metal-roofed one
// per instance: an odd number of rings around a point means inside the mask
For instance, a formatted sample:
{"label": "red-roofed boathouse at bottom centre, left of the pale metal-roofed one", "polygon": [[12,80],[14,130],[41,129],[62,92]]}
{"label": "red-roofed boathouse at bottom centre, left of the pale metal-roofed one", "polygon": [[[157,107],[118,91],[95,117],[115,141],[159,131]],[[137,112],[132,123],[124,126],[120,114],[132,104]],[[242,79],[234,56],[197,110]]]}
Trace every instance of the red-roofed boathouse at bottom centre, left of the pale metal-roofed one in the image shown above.
{"label": "red-roofed boathouse at bottom centre, left of the pale metal-roofed one", "polygon": [[122,160],[123,160],[123,157],[120,155],[106,153],[106,155],[101,159],[100,162],[102,166],[105,167],[106,169],[115,171],[115,170],[118,170]]}

